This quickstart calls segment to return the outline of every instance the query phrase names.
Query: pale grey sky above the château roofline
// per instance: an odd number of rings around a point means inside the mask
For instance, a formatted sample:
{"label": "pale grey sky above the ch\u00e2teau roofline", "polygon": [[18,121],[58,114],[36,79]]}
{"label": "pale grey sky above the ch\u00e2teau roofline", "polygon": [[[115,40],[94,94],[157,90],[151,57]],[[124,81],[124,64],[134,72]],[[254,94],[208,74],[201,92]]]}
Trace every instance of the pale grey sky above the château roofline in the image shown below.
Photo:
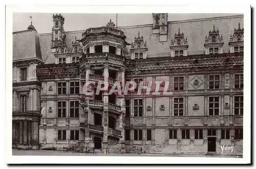
{"label": "pale grey sky above the ch\u00e2teau roofline", "polygon": [[[52,20],[53,13],[13,13],[13,32],[27,30],[31,24],[30,16],[32,16],[32,25],[35,27],[39,34],[51,33],[53,27]],[[186,19],[198,19],[208,17],[219,17],[219,16],[230,16],[238,14],[227,14],[227,13],[214,13],[214,14],[168,14],[168,21],[175,20],[186,20]],[[65,17],[64,29],[68,31],[80,31],[86,30],[92,27],[105,26],[110,19],[116,24],[116,14],[89,14],[89,13],[62,13]],[[123,26],[134,26],[134,25],[145,25],[152,24],[153,16],[152,13],[145,14],[118,14],[117,25],[118,27]]]}

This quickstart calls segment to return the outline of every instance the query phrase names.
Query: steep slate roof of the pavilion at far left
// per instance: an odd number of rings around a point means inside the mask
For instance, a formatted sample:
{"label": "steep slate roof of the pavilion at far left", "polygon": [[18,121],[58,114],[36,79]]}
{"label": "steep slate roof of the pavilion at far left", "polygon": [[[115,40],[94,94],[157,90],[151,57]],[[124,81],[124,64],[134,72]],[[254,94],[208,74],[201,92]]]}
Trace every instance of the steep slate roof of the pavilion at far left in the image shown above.
{"label": "steep slate roof of the pavilion at far left", "polygon": [[40,39],[35,29],[14,32],[12,37],[13,60],[42,59]]}

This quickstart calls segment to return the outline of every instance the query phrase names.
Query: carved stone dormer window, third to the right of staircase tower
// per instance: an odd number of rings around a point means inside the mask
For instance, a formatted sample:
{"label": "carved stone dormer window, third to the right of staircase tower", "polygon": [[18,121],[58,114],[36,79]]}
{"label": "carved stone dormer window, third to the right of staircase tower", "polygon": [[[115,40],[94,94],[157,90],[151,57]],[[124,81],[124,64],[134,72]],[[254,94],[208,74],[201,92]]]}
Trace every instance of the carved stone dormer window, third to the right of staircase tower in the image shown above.
{"label": "carved stone dormer window, third to the right of staircase tower", "polygon": [[223,53],[223,38],[219,34],[219,30],[214,29],[209,31],[209,35],[205,36],[205,55],[222,54]]}

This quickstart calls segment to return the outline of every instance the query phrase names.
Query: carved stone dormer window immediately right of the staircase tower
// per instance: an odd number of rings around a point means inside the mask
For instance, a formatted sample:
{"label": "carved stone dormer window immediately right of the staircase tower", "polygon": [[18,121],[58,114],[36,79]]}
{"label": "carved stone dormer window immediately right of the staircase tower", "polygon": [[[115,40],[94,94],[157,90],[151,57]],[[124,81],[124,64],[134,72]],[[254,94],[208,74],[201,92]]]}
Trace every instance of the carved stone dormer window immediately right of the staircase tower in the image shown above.
{"label": "carved stone dormer window immediately right of the staircase tower", "polygon": [[131,59],[145,59],[147,55],[147,44],[144,42],[143,36],[140,36],[138,33],[138,37],[134,38],[134,42],[132,42],[131,47]]}

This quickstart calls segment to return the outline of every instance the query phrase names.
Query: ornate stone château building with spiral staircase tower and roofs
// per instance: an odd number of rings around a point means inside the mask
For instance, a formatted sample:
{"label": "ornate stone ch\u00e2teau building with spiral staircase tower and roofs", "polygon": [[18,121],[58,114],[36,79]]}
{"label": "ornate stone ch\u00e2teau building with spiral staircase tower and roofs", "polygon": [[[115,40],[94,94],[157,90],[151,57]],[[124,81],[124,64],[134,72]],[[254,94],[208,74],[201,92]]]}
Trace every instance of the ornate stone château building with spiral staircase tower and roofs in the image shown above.
{"label": "ornate stone ch\u00e2teau building with spiral staircase tower and roofs", "polygon": [[[65,32],[55,14],[51,34],[32,24],[14,32],[13,148],[221,154],[229,144],[241,155],[243,15],[167,18]],[[102,81],[108,89],[97,93]],[[152,91],[172,94],[110,94],[116,82],[152,82]]]}

